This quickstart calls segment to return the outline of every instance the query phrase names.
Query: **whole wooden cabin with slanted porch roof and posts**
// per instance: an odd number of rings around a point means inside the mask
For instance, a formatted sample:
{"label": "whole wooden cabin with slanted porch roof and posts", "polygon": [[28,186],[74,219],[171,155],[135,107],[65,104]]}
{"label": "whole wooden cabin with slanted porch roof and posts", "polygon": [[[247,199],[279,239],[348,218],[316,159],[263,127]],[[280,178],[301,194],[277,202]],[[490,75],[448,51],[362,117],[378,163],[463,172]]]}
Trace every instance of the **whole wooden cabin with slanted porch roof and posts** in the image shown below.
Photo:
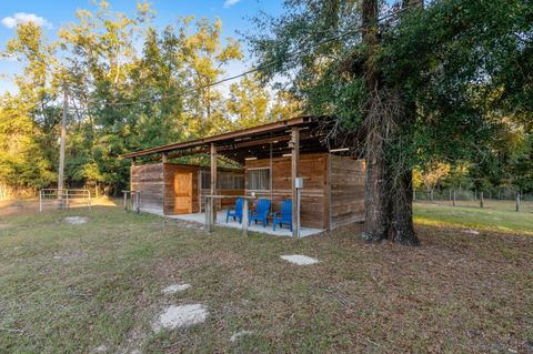
{"label": "whole wooden cabin with slanted porch roof and posts", "polygon": [[[189,142],[132,152],[131,190],[141,193],[141,210],[163,214],[202,211],[202,195],[255,195],[279,211],[284,199],[296,208],[296,178],[303,181],[300,223],[331,230],[364,219],[365,163],[345,146],[328,144],[320,118],[302,117]],[[209,153],[209,168],[172,164],[173,158]],[[139,158],[160,158],[138,164]],[[218,166],[223,158],[242,169]],[[234,203],[219,200],[218,209]]]}

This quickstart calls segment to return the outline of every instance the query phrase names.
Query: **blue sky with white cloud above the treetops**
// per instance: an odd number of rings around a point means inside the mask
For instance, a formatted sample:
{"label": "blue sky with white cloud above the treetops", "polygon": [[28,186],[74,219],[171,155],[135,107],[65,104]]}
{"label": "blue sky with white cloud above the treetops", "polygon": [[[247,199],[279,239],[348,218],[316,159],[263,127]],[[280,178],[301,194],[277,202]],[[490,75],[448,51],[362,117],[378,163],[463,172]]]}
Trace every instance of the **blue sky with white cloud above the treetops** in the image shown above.
{"label": "blue sky with white cloud above the treetops", "polygon": [[[135,0],[109,0],[111,9],[134,14]],[[250,18],[264,11],[276,16],[282,12],[282,0],[151,0],[157,11],[153,24],[164,28],[174,24],[179,17],[194,14],[197,18],[220,18],[222,38],[240,39],[238,31],[253,30]],[[90,0],[1,0],[0,8],[0,51],[14,36],[19,21],[33,21],[41,26],[49,40],[54,40],[62,24],[76,20],[79,9],[94,10]],[[244,48],[245,50],[245,48]],[[250,67],[250,62],[235,62],[227,68],[225,75],[240,73]],[[21,63],[12,59],[0,59],[0,94],[6,91],[17,92],[12,82],[13,74],[21,71]]]}

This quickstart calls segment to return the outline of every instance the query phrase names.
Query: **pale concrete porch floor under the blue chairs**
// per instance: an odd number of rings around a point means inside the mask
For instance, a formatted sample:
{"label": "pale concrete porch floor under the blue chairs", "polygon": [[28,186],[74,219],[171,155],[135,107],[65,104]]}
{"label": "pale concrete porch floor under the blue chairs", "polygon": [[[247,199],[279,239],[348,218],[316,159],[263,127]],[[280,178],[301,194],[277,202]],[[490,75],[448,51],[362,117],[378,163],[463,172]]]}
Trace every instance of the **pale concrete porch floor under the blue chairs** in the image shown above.
{"label": "pale concrete porch floor under the blue chairs", "polygon": [[[200,224],[205,224],[205,214],[204,213],[194,213],[194,214],[179,214],[179,215],[165,215],[168,218],[172,219],[179,219],[179,220],[185,220],[185,221],[192,221],[197,222]],[[232,218],[225,222],[225,211],[219,211],[217,212],[217,223],[215,226],[223,226],[223,227],[232,227],[232,229],[241,229],[242,225],[238,221],[233,221]],[[253,232],[261,232],[261,233],[266,233],[269,235],[275,235],[275,236],[285,236],[285,237],[291,237],[292,232],[289,230],[289,226],[283,225],[283,229],[280,229],[279,226],[275,227],[275,231],[272,227],[272,223],[269,223],[266,227],[263,227],[262,224],[250,224],[250,231]],[[306,237],[311,236],[318,233],[321,233],[323,230],[320,229],[310,229],[310,227],[300,227],[300,237]]]}

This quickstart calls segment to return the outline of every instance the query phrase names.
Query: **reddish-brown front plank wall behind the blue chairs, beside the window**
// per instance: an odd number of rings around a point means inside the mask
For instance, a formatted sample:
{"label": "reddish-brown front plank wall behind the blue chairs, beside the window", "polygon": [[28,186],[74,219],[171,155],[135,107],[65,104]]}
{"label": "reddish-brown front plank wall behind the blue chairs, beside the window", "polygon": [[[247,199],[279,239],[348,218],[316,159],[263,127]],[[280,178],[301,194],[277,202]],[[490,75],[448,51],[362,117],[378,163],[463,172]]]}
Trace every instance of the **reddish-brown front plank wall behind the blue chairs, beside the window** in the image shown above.
{"label": "reddish-brown front plank wall behind the blue chairs, beside the window", "polygon": [[[270,168],[270,159],[250,160],[245,165],[248,169]],[[303,178],[303,190],[301,200],[302,226],[328,229],[328,154],[313,153],[301,154],[299,176]],[[282,200],[290,199],[292,194],[291,158],[272,159],[272,191],[255,191],[259,198],[272,200],[272,210],[280,210]],[[247,194],[249,181],[245,173]]]}

